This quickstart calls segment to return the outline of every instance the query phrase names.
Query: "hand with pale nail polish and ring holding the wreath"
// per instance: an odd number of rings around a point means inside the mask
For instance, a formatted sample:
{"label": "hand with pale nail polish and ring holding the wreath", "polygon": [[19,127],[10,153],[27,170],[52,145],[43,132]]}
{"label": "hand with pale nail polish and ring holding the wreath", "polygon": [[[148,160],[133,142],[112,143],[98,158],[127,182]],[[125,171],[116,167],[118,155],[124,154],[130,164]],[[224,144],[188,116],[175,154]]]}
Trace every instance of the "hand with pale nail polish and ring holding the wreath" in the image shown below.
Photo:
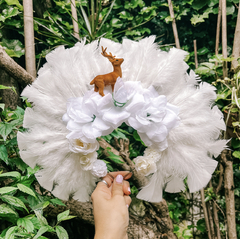
{"label": "hand with pale nail polish and ring holding the wreath", "polygon": [[[92,193],[93,214],[95,221],[94,239],[127,239],[129,223],[128,206],[131,203],[129,182],[123,177],[129,172],[111,172],[114,177],[103,179],[111,185],[99,182]],[[125,179],[130,178],[131,175]]]}

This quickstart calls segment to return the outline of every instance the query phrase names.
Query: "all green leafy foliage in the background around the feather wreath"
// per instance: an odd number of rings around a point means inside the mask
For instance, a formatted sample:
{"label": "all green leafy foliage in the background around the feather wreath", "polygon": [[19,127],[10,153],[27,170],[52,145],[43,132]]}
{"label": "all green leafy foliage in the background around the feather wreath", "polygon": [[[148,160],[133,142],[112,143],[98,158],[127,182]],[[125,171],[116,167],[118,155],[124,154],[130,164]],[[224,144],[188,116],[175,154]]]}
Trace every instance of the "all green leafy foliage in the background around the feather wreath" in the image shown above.
{"label": "all green leafy foliage in the background around the feather wreath", "polygon": [[[40,1],[41,2],[41,1]],[[228,55],[232,52],[232,43],[237,19],[238,0],[227,1]],[[53,0],[53,7],[42,13],[34,13],[34,30],[36,42],[37,69],[45,62],[46,54],[59,45],[72,47],[78,39],[73,35],[70,1]],[[216,104],[223,111],[239,112],[239,73],[231,73],[229,78],[222,79],[221,55],[215,56],[215,32],[218,14],[217,0],[175,0],[174,12],[177,20],[181,48],[189,52],[186,59],[190,68],[195,70],[193,40],[197,40],[198,60],[201,63],[196,70],[201,78],[217,87]],[[174,46],[172,19],[169,16],[166,0],[130,0],[130,1],[76,1],[78,10],[78,25],[80,38],[86,37],[88,42],[106,37],[121,42],[128,38],[139,40],[151,34],[156,35],[156,41],[163,50]],[[6,52],[14,57],[24,67],[23,38],[23,6],[21,0],[0,0],[0,44]],[[220,46],[221,52],[221,46]],[[218,65],[215,64],[218,62]],[[229,63],[230,64],[230,63]],[[20,86],[23,88],[23,86]],[[0,86],[0,90],[6,87]],[[14,90],[9,89],[9,90]],[[233,98],[232,95],[236,95]],[[23,131],[22,120],[24,109],[31,105],[23,99],[23,108],[9,109],[0,105],[0,238],[66,238],[73,230],[70,224],[62,227],[62,221],[72,219],[69,211],[65,211],[53,219],[44,215],[43,209],[50,205],[63,205],[36,182],[34,173],[38,168],[28,167],[20,158],[16,133]],[[234,132],[238,132],[239,119],[235,119]],[[122,125],[104,139],[114,144],[114,137],[129,138],[130,157],[141,155],[145,149],[137,132]],[[234,182],[236,199],[236,221],[238,238],[240,238],[240,141],[238,134],[232,140],[234,157]],[[104,158],[101,149],[99,156],[107,162],[108,169],[114,166]],[[112,160],[118,162],[115,155]],[[218,183],[219,171],[213,175],[213,188],[208,188],[206,201],[214,200],[219,208],[219,219],[222,237],[226,235],[226,215],[224,189],[218,195],[214,187]],[[137,194],[137,188],[132,187],[132,196]],[[38,188],[38,191],[36,191]],[[187,198],[187,191],[179,194],[167,194],[164,198],[169,205],[170,216],[174,223],[174,231],[179,238],[192,238],[193,233],[200,238],[207,238],[204,219],[198,220],[185,228],[180,222],[191,221],[190,208],[193,201]],[[74,219],[73,219],[74,220]],[[72,221],[72,220],[71,220]],[[49,223],[50,222],[50,223]],[[194,230],[193,230],[194,229]],[[44,234],[44,236],[43,236]]]}

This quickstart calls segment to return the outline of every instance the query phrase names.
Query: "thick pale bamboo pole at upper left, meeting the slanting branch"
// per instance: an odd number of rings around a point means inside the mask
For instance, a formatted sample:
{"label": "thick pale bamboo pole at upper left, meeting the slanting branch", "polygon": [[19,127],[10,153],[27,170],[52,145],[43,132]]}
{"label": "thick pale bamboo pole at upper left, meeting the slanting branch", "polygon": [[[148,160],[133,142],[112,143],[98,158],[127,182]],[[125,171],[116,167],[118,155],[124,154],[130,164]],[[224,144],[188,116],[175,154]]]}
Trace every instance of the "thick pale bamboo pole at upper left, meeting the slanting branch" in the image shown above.
{"label": "thick pale bamboo pole at upper left, meeting the slanting branch", "polygon": [[26,70],[36,77],[32,0],[23,0],[23,12]]}

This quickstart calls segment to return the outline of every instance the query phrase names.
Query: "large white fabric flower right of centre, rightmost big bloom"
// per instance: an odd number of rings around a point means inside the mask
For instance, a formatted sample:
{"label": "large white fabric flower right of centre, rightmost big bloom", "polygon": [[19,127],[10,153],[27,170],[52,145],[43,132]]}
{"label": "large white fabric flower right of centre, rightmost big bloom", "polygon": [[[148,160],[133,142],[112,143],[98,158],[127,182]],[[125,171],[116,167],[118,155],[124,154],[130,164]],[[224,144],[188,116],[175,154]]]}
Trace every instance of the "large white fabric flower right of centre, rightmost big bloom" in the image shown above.
{"label": "large white fabric flower right of centre, rightmost big bloom", "polygon": [[169,131],[178,126],[178,108],[167,103],[164,95],[158,95],[153,87],[144,91],[144,102],[129,118],[128,124],[138,131],[142,141],[160,151],[168,147]]}

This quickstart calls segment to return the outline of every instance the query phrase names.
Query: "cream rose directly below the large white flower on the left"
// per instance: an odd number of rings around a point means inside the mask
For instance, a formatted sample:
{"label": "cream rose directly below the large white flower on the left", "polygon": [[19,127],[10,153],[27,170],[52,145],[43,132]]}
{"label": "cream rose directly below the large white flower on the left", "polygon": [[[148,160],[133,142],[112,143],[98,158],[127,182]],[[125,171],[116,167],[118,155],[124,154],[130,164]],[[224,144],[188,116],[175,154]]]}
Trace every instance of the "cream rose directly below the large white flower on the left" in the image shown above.
{"label": "cream rose directly below the large white flower on the left", "polygon": [[87,155],[95,152],[99,149],[99,143],[96,140],[95,143],[84,143],[80,139],[69,139],[69,149],[74,153],[81,153]]}

